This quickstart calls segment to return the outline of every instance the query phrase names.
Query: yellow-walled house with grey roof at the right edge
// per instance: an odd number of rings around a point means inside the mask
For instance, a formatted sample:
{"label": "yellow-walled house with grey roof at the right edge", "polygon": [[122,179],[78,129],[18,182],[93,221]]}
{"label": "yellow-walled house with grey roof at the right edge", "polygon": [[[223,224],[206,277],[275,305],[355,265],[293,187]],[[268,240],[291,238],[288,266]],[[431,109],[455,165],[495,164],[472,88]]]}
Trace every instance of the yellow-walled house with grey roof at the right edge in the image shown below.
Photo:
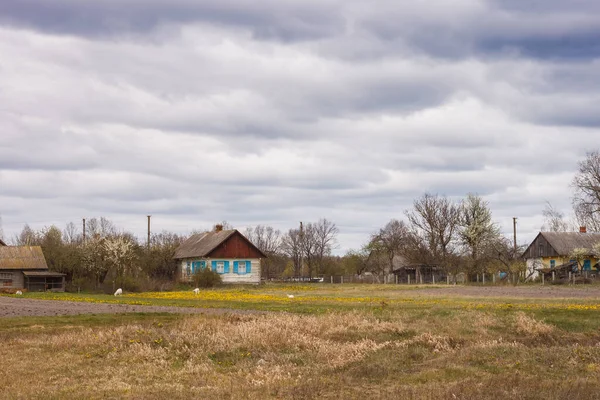
{"label": "yellow-walled house with grey roof at the right edge", "polygon": [[535,278],[542,269],[562,269],[576,267],[577,260],[571,257],[575,249],[588,249],[590,254],[583,260],[584,271],[598,271],[599,259],[592,247],[600,242],[600,233],[587,232],[581,227],[579,232],[540,232],[523,253],[527,262],[527,276]]}

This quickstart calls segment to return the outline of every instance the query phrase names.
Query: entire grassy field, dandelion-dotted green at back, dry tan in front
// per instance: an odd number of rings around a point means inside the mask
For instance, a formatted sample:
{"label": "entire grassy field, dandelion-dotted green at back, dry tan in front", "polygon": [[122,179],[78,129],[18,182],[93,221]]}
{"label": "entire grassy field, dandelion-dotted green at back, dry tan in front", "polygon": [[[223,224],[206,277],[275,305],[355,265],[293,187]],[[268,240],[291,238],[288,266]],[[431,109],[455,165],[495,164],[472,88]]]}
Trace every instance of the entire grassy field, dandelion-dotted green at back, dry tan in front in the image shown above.
{"label": "entire grassy field, dandelion-dotted green at back, dry tan in front", "polygon": [[27,294],[288,312],[1,318],[0,398],[600,398],[597,289],[469,290]]}

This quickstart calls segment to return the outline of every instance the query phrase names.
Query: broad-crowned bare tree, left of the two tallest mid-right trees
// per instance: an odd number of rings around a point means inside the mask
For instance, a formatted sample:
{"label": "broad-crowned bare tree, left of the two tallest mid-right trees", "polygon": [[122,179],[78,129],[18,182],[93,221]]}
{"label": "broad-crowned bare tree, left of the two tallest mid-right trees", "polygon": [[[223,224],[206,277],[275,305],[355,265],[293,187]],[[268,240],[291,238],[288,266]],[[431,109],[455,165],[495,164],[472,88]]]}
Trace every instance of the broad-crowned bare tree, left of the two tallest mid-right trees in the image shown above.
{"label": "broad-crowned bare tree, left of the two tallest mid-right trees", "polygon": [[428,246],[436,262],[447,267],[460,223],[460,207],[445,196],[424,194],[406,211],[411,229]]}

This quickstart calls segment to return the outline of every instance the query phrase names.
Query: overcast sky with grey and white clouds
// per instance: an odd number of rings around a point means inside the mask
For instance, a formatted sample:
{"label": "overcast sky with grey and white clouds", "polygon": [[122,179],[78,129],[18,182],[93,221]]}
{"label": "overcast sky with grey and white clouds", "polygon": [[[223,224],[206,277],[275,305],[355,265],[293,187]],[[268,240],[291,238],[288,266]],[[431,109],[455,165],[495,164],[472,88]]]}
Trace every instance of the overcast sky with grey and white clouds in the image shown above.
{"label": "overcast sky with grey and white clouds", "polygon": [[2,0],[4,237],[327,218],[341,254],[471,192],[527,242],[599,89],[597,0]]}

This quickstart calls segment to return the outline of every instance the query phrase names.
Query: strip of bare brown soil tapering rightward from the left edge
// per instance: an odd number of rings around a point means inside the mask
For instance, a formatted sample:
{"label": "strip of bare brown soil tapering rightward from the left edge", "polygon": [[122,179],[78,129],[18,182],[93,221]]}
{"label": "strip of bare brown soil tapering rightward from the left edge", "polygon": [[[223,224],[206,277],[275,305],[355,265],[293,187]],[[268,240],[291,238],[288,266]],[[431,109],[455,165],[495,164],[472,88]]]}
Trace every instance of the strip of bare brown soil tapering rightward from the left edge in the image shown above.
{"label": "strip of bare brown soil tapering rightward from the left edge", "polygon": [[253,310],[224,308],[191,308],[138,306],[129,304],[99,304],[75,301],[33,300],[0,296],[0,317],[56,316],[77,314],[117,314],[136,312],[168,312],[174,314],[248,314]]}

